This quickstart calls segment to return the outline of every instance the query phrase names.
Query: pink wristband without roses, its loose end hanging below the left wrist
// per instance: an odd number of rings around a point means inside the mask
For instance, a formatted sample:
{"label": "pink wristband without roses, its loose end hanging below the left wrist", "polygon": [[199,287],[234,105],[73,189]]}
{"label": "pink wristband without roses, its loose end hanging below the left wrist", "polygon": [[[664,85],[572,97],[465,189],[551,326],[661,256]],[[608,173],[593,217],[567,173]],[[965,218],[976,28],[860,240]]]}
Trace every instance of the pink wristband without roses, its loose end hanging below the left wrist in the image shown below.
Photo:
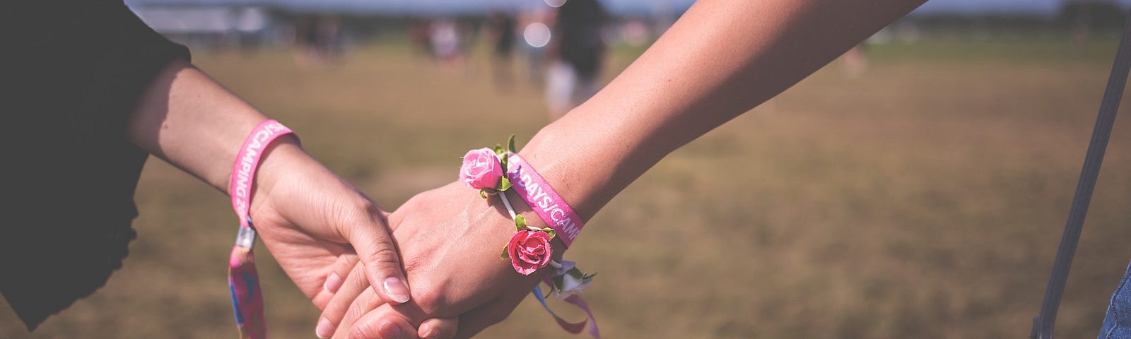
{"label": "pink wristband without roses, its loose end hanging below the left wrist", "polygon": [[275,120],[259,123],[243,141],[243,147],[240,147],[235,165],[232,167],[228,194],[232,195],[232,209],[240,217],[240,233],[235,237],[235,246],[232,247],[232,255],[228,258],[227,286],[232,292],[232,307],[235,310],[235,325],[240,329],[240,338],[267,338],[264,295],[259,287],[259,273],[256,271],[256,257],[252,252],[256,229],[248,209],[251,206],[251,184],[264,149],[278,137],[291,133],[293,133],[291,129]]}

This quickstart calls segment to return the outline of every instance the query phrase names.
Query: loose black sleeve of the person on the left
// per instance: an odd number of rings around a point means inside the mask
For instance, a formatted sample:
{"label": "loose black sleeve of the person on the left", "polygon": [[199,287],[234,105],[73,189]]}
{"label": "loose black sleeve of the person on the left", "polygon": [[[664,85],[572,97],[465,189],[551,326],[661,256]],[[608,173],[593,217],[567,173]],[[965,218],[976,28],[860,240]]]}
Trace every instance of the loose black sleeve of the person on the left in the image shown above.
{"label": "loose black sleeve of the person on the left", "polygon": [[[29,330],[103,286],[136,236],[144,89],[188,49],[121,1],[17,1],[0,20],[0,293]],[[24,3],[26,2],[26,3]],[[10,216],[10,217],[9,217]]]}

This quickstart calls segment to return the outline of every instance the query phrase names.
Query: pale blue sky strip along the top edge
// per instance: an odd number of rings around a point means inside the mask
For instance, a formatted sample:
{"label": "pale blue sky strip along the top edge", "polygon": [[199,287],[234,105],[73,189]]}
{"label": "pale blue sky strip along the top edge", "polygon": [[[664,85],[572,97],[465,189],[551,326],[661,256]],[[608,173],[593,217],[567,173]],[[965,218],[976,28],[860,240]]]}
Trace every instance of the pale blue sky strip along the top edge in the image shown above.
{"label": "pale blue sky strip along the top edge", "polygon": [[[602,0],[616,14],[682,11],[693,0]],[[932,0],[916,14],[1028,14],[1053,16],[1067,0]],[[1115,0],[1131,6],[1131,0]],[[146,5],[274,5],[295,10],[388,14],[483,12],[492,8],[543,6],[539,0],[126,0]]]}

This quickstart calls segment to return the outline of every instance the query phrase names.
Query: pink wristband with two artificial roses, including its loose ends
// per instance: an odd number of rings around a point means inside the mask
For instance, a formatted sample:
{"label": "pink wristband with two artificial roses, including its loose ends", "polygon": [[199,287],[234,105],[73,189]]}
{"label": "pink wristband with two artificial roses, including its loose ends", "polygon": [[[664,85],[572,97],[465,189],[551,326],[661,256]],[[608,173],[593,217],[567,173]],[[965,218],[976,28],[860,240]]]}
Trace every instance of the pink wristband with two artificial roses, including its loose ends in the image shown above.
{"label": "pink wristband with two artificial roses, including its loose ends", "polygon": [[[563,320],[553,310],[550,310],[541,287],[535,286],[533,294],[542,303],[542,306],[554,316],[558,324],[571,333],[579,333],[588,321],[589,334],[594,338],[601,338],[593,312],[578,295],[593,284],[594,275],[582,272],[572,261],[558,262],[551,259],[553,250],[550,242],[554,237],[561,237],[562,243],[569,247],[581,231],[584,223],[566,203],[566,200],[534,171],[534,167],[515,151],[515,136],[510,136],[507,140],[506,148],[502,145],[495,145],[494,149],[480,148],[467,151],[464,155],[464,165],[459,169],[459,180],[468,186],[480,190],[480,197],[483,199],[487,199],[489,195],[498,195],[503,206],[507,207],[511,219],[515,220],[515,235],[503,247],[500,257],[504,260],[510,259],[515,271],[524,276],[529,276],[546,266],[552,267],[553,272],[544,280],[546,285],[550,285],[549,295],[581,307],[588,315],[588,320],[592,320],[579,323]],[[516,214],[511,207],[506,194],[508,190],[512,190],[521,197],[549,227],[538,228],[527,225],[526,218]]]}

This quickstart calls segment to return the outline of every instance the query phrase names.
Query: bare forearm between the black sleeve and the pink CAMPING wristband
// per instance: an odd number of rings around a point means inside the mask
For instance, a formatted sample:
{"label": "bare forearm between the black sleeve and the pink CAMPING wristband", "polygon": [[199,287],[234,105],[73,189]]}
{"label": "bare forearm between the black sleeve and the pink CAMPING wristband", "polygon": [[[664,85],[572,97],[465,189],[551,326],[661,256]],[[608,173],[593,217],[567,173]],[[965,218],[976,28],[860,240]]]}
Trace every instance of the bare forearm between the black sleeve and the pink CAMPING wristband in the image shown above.
{"label": "bare forearm between the black sleeve and the pink CAMPING wristband", "polygon": [[[143,94],[127,132],[138,147],[227,192],[235,153],[266,119],[200,70],[176,60]],[[288,150],[265,157],[260,172],[273,172],[271,163],[279,158],[303,155],[291,137],[276,141],[269,151],[279,147]]]}

